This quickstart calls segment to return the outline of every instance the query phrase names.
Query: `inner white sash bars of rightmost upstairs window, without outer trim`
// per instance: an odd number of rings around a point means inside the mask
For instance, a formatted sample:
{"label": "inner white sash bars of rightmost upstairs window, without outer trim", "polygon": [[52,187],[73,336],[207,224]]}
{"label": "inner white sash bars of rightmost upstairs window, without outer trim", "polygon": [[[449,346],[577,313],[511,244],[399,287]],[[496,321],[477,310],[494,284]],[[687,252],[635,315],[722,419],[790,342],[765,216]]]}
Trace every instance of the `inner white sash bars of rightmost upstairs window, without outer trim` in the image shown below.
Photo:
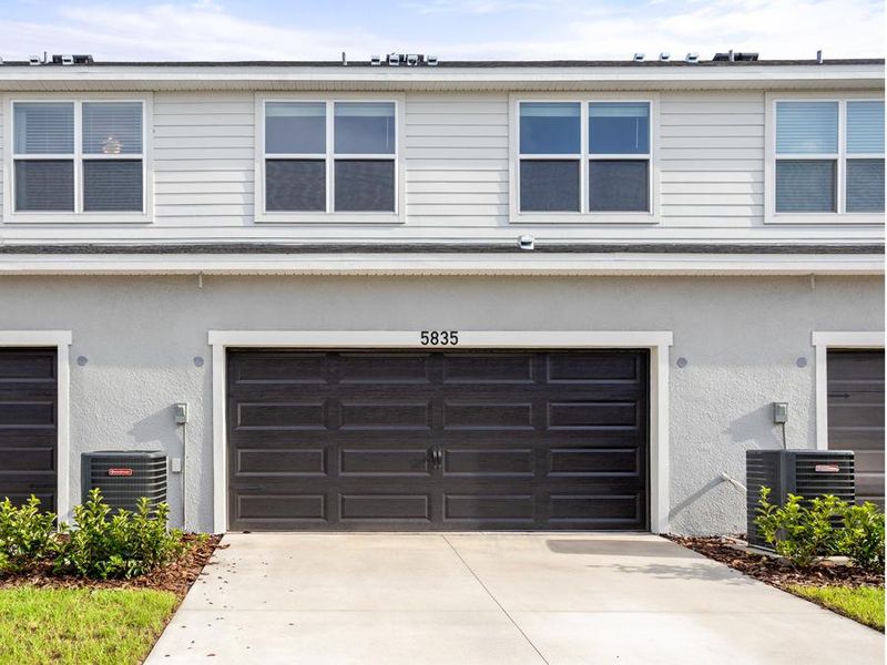
{"label": "inner white sash bars of rightmost upstairs window, without outer trim", "polygon": [[[766,214],[773,217],[785,218],[793,222],[793,217],[835,217],[835,216],[873,216],[884,215],[884,212],[863,212],[848,209],[848,166],[852,160],[878,160],[884,158],[885,153],[853,153],[848,151],[848,106],[856,102],[878,102],[876,98],[847,96],[847,98],[775,98],[769,105],[771,139],[769,154],[767,157],[767,168],[771,172],[767,181],[767,198],[769,201]],[[782,153],[778,150],[778,109],[779,104],[802,104],[802,103],[832,103],[837,104],[837,151],[828,153]],[[833,161],[835,162],[835,209],[827,212],[792,212],[779,211],[777,201],[777,175],[776,162],[801,161]],[[801,219],[798,219],[801,221]]]}

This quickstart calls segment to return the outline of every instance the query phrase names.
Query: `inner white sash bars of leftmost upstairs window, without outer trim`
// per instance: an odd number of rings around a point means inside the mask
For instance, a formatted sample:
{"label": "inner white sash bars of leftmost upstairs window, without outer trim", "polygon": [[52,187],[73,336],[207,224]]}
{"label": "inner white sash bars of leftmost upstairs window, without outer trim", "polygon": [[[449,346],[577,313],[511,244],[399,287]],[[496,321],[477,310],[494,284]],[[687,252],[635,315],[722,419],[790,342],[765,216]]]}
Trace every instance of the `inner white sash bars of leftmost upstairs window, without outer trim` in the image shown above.
{"label": "inner white sash bars of leftmost upstairs window, without outer trim", "polygon": [[[83,151],[83,104],[101,104],[101,103],[137,103],[141,105],[142,111],[142,119],[141,119],[141,152],[139,153],[116,153],[116,154],[104,154],[104,153],[85,153]],[[149,192],[147,192],[147,177],[146,177],[146,145],[147,145],[147,103],[143,99],[115,99],[115,98],[80,98],[80,99],[20,99],[20,100],[12,100],[10,110],[12,111],[12,124],[11,124],[11,133],[14,137],[16,133],[16,119],[14,119],[14,105],[18,103],[71,103],[73,104],[74,109],[74,150],[71,153],[58,153],[58,154],[29,154],[29,153],[18,153],[14,150],[14,140],[12,141],[12,154],[10,155],[11,162],[11,205],[12,212],[17,215],[23,216],[71,216],[74,215],[77,217],[89,216],[89,217],[103,217],[103,216],[132,216],[139,215],[143,216],[147,213],[147,201],[149,201]],[[38,160],[70,160],[73,162],[74,166],[74,206],[73,209],[70,211],[23,211],[18,207],[18,203],[16,201],[16,163],[17,162],[24,162],[24,161],[38,161]],[[99,161],[99,160],[124,160],[129,162],[140,162],[142,165],[142,208],[140,211],[86,211],[84,209],[84,198],[85,198],[85,178],[83,176],[84,166],[83,163],[86,161]]]}

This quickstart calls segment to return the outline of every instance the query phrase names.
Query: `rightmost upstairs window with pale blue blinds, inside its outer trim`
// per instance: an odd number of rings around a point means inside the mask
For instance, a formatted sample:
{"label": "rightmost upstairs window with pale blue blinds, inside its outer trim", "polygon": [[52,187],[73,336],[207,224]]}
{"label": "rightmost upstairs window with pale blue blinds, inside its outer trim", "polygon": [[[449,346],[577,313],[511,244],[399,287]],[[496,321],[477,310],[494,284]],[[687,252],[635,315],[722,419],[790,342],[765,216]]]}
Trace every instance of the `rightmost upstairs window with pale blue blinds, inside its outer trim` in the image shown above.
{"label": "rightmost upstairs window with pale blue blinds, inside its outer trim", "polygon": [[776,213],[884,212],[884,102],[777,101]]}

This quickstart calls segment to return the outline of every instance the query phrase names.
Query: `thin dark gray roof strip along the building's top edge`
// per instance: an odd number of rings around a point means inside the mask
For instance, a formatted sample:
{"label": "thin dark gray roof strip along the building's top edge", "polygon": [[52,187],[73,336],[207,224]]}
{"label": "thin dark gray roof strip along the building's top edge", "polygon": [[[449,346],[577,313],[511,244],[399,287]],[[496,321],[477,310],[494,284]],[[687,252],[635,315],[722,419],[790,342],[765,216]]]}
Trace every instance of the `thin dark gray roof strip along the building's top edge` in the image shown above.
{"label": "thin dark gray roof strip along the building's top edge", "polygon": [[[684,62],[681,59],[666,62],[660,60],[441,60],[438,68],[471,68],[471,69],[503,69],[503,68],[592,68],[592,66],[642,66],[642,68],[706,68],[706,66],[786,66],[786,65],[853,65],[853,64],[884,64],[883,58],[847,58],[827,59],[818,63],[816,60],[755,60],[755,61],[715,61],[701,60],[697,63]],[[30,66],[28,61],[7,60],[0,66]],[[65,66],[63,64],[45,63],[40,66]],[[338,60],[235,60],[235,61],[109,61],[93,62],[91,64],[78,64],[73,66],[316,66],[316,68],[340,68],[344,66]],[[371,68],[369,61],[348,61],[350,68]],[[377,65],[378,69],[391,69],[387,64]],[[375,68],[374,68],[375,69]],[[406,66],[398,69],[427,70],[434,69],[428,65]]]}

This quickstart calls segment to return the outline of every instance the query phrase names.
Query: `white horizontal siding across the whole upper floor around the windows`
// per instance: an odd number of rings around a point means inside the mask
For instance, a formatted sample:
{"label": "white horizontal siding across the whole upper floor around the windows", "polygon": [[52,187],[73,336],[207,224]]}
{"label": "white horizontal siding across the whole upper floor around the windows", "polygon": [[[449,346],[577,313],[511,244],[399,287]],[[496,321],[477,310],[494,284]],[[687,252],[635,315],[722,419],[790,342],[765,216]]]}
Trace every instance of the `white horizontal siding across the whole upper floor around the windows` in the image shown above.
{"label": "white horizontal siding across the whole upper floor around the windows", "polygon": [[[379,95],[366,95],[374,96]],[[585,98],[587,93],[573,91],[564,96]],[[360,98],[361,93],[348,93],[348,99]],[[656,152],[651,178],[660,190],[651,203],[657,224],[509,224],[509,94],[482,91],[404,95],[400,157],[406,215],[401,224],[257,223],[255,99],[249,92],[153,94],[150,228],[113,223],[73,228],[4,224],[3,237],[10,242],[140,243],[517,243],[524,233],[540,243],[871,242],[883,237],[874,225],[764,224],[765,100],[763,92],[755,91],[659,93],[651,123]],[[6,126],[2,131],[8,136]],[[0,145],[0,150],[6,149]],[[2,173],[8,181],[7,175]]]}

